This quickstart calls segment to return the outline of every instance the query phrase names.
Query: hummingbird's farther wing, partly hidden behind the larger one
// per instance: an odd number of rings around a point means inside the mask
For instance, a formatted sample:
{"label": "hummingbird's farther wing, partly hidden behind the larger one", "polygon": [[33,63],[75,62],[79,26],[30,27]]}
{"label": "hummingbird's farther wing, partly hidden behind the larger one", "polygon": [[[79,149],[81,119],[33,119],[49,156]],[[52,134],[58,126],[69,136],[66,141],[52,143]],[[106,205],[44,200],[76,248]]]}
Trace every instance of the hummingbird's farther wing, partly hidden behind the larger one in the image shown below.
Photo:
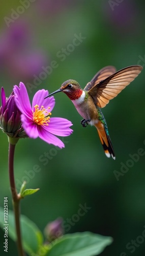
{"label": "hummingbird's farther wing, partly hidden behind the larger one", "polygon": [[107,66],[97,72],[97,74],[92,78],[90,82],[86,84],[84,87],[84,91],[89,91],[91,90],[92,87],[94,87],[98,82],[104,80],[108,76],[112,75],[115,73],[117,70],[113,66]]}

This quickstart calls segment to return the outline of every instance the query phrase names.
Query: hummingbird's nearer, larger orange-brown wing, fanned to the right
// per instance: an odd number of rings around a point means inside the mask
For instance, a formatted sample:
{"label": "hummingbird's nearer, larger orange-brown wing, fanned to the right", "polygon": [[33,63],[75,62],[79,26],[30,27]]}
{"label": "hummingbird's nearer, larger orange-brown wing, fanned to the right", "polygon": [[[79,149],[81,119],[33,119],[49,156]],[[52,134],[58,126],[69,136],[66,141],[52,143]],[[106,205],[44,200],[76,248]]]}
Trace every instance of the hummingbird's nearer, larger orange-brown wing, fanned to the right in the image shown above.
{"label": "hummingbird's nearer, larger orange-brown wing, fanned to the right", "polygon": [[104,80],[98,82],[88,93],[100,108],[104,108],[110,99],[116,97],[141,72],[138,65],[121,69]]}

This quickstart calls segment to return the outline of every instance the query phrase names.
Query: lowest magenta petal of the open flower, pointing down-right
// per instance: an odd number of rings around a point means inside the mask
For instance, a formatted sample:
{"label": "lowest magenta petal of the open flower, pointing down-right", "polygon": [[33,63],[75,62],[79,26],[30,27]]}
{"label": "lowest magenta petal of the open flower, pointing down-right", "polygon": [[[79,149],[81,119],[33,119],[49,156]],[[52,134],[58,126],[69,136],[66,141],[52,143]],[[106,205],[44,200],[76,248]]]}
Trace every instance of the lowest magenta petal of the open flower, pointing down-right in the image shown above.
{"label": "lowest magenta petal of the open flower, pointing down-right", "polygon": [[55,146],[59,146],[60,148],[65,147],[64,143],[59,138],[46,131],[43,126],[38,127],[38,133],[40,139],[44,140],[48,144],[53,144]]}

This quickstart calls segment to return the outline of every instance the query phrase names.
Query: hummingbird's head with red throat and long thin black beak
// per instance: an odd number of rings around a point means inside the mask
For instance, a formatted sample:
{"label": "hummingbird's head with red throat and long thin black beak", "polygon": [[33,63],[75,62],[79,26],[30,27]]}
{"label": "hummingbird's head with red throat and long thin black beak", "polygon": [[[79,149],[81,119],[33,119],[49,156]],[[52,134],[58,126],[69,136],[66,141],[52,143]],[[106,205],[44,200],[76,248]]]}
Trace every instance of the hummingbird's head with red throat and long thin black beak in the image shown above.
{"label": "hummingbird's head with red throat and long thin black beak", "polygon": [[64,92],[71,100],[75,100],[81,96],[82,89],[77,81],[69,79],[63,82],[59,90],[49,94],[47,97],[59,92]]}

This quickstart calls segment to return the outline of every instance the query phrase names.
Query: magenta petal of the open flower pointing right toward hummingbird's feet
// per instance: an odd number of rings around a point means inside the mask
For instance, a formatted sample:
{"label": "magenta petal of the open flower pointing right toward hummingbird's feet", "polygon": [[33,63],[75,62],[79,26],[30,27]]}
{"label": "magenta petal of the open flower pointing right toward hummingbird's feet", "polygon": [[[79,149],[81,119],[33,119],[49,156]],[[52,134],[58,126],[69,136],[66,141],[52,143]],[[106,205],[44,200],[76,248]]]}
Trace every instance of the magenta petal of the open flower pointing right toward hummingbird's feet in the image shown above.
{"label": "magenta petal of the open flower pointing right toward hummingbird's feet", "polygon": [[50,117],[50,123],[48,126],[45,126],[44,129],[47,130],[49,133],[58,136],[69,136],[73,130],[70,129],[70,126],[73,124],[61,117]]}

